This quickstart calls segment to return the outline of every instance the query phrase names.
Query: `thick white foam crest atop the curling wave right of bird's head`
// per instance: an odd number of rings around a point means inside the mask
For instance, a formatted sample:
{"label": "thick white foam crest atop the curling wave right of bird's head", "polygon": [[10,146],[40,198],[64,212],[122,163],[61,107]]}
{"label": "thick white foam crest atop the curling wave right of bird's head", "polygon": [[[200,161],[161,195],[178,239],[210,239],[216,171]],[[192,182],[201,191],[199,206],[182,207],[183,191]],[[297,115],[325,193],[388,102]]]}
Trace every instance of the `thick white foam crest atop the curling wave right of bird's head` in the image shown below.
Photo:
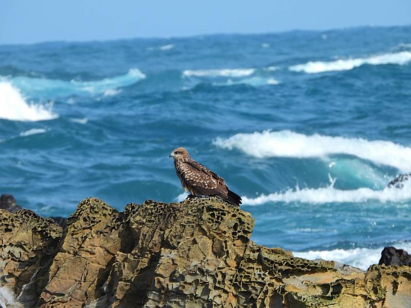
{"label": "thick white foam crest atop the curling wave right of bird's head", "polygon": [[257,158],[324,158],[328,155],[345,154],[406,172],[411,170],[411,147],[383,140],[368,141],[320,134],[307,136],[289,130],[265,130],[238,133],[228,139],[217,138],[213,143],[221,148],[239,149]]}

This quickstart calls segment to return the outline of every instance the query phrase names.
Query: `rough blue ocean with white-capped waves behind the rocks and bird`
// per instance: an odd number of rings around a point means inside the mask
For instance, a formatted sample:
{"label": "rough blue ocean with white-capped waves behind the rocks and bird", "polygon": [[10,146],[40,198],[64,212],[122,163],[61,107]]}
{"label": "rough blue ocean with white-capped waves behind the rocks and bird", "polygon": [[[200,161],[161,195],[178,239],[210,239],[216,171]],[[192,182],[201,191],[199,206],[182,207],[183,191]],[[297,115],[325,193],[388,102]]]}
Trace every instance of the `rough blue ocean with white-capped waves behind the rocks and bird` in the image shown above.
{"label": "rough blue ocean with white-capped waves behind the rocks and bird", "polygon": [[411,26],[0,46],[0,193],[185,198],[170,152],[225,178],[252,239],[360,268],[411,251]]}

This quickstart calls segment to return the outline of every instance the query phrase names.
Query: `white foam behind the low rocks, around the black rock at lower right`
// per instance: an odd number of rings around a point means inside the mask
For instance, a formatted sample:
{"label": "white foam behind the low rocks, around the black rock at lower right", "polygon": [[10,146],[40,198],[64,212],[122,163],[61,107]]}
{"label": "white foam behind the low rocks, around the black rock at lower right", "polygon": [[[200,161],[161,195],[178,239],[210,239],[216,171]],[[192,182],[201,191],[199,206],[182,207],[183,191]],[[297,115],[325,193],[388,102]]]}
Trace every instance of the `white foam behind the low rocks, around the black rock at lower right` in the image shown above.
{"label": "white foam behind the low rocks, around the black rock at lower right", "polygon": [[[411,251],[411,243],[409,242],[399,242],[395,243],[393,246],[397,249],[404,249],[407,252]],[[293,252],[293,254],[295,257],[309,260],[324,259],[338,261],[343,264],[366,270],[370,265],[378,264],[383,249],[384,247],[333,249],[330,251]]]}

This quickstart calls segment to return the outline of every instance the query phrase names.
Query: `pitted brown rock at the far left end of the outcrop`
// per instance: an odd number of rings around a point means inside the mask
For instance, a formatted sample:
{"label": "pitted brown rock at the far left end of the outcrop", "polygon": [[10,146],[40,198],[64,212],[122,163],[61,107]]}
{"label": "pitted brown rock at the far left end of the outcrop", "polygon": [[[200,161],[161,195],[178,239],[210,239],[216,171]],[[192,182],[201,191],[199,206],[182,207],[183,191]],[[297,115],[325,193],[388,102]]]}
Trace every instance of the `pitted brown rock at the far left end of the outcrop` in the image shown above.
{"label": "pitted brown rock at the far left end of the outcrop", "polygon": [[0,286],[18,290],[24,306],[39,300],[61,237],[61,227],[30,210],[0,210]]}

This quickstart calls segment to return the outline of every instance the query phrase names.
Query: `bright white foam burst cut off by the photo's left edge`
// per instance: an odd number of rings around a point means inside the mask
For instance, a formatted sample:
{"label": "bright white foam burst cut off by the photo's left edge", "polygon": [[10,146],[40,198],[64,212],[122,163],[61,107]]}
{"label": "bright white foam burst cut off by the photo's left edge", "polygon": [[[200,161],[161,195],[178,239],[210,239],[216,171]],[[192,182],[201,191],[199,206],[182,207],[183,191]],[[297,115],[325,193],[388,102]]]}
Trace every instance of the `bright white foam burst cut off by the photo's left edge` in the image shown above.
{"label": "bright white foam burst cut off by the photo's left edge", "polygon": [[46,121],[57,118],[51,104],[28,104],[9,82],[0,82],[0,118],[12,121]]}

